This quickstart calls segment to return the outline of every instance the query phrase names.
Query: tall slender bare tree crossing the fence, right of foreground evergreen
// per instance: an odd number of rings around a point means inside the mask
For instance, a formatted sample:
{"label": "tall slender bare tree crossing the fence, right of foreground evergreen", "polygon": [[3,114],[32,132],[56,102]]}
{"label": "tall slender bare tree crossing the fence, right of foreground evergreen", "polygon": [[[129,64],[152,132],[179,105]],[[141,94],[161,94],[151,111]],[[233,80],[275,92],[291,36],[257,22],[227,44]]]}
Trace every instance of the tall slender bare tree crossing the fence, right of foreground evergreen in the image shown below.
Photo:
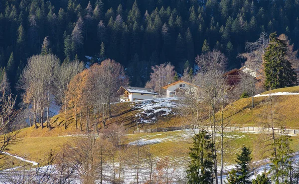
{"label": "tall slender bare tree crossing the fence, right of foreground evergreen", "polygon": [[[224,128],[227,123],[224,122],[224,108],[226,105],[226,96],[229,86],[223,73],[227,66],[227,59],[223,53],[217,50],[207,52],[195,58],[196,63],[201,68],[196,75],[195,83],[201,87],[203,91],[203,100],[206,104],[205,110],[208,112],[208,121],[211,128],[211,138],[214,145],[214,175],[217,178],[217,150],[220,147],[220,183],[222,184],[223,173],[223,154],[224,154]],[[220,112],[216,114],[217,112]],[[218,127],[220,126],[220,130]],[[218,142],[216,134],[220,133]],[[218,184],[218,180],[215,180]]]}

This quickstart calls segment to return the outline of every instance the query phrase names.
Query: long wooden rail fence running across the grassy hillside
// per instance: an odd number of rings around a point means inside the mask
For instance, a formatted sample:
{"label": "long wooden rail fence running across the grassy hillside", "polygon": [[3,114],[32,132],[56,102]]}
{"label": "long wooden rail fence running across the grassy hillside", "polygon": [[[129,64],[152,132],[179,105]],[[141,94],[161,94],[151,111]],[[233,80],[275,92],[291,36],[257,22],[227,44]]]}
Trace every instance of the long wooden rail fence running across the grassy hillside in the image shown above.
{"label": "long wooden rail fence running across the grassy hillside", "polygon": [[[191,125],[184,125],[180,127],[165,127],[165,128],[155,128],[155,129],[141,129],[141,130],[135,130],[133,131],[133,134],[139,134],[139,133],[152,133],[152,132],[168,132],[168,131],[175,131],[175,130],[184,130],[184,129],[190,129],[195,128],[198,129],[198,126],[191,126]],[[200,129],[205,130],[211,130],[211,126],[203,125],[199,127]],[[216,126],[217,131],[221,130],[221,126]],[[255,127],[255,126],[249,126],[249,125],[234,125],[229,127],[224,127],[223,131],[248,131],[248,132],[272,132],[271,127]],[[286,133],[286,134],[299,134],[299,128],[274,128],[274,133]]]}

